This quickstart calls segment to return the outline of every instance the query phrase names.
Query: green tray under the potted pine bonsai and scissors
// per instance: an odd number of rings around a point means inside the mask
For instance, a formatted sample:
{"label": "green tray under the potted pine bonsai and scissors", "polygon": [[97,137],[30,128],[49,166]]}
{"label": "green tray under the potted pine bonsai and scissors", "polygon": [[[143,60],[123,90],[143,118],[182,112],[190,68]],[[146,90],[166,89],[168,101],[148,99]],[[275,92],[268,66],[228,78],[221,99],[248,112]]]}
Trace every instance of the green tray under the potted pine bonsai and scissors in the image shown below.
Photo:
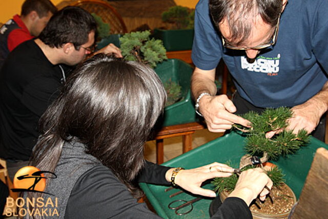
{"label": "green tray under the potted pine bonsai and scissors", "polygon": [[[201,165],[210,164],[212,162],[225,163],[231,161],[235,164],[234,167],[238,167],[240,158],[245,154],[244,137],[232,132],[226,134],[220,138],[210,141],[200,147],[182,154],[162,165],[171,167],[185,167],[194,168]],[[285,180],[296,194],[298,198],[303,188],[304,181],[311,167],[313,157],[318,148],[328,149],[328,145],[311,137],[311,142],[302,147],[293,155],[286,157],[280,157],[278,161],[273,163],[277,164],[286,175]],[[166,186],[158,186],[146,183],[140,183],[142,190],[144,190],[148,200],[158,213],[163,218],[209,218],[209,207],[213,199],[203,199],[194,203],[194,209],[186,215],[178,216],[174,213],[174,210],[168,208],[169,203],[174,200],[192,200],[196,196],[192,194],[182,193],[173,198],[169,198],[169,195],[179,191],[179,189],[173,189],[165,192]],[[204,187],[211,188],[208,184]]]}

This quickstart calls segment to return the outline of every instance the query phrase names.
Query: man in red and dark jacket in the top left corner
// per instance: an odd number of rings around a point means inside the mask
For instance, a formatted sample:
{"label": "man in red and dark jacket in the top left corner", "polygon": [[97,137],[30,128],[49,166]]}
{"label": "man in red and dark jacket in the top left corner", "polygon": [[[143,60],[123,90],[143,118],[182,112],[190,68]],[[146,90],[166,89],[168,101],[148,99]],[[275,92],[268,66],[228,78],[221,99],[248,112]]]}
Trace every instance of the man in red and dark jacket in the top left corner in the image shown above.
{"label": "man in red and dark jacket in the top left corner", "polygon": [[22,12],[0,29],[0,68],[8,54],[20,43],[38,36],[57,8],[50,0],[26,0]]}

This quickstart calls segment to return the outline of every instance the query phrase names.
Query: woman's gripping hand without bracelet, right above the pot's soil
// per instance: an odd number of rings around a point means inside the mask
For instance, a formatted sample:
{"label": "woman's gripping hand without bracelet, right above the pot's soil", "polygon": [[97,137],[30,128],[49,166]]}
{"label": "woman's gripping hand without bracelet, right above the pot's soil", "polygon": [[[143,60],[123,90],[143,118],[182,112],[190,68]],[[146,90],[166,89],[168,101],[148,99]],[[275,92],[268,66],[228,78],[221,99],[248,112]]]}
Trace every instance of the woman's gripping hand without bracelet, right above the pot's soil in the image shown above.
{"label": "woman's gripping hand without bracelet, right above the pot's soil", "polygon": [[238,197],[247,205],[250,205],[258,195],[260,200],[264,201],[265,196],[270,192],[264,186],[268,186],[269,189],[273,186],[268,175],[261,168],[248,169],[240,174],[236,187],[229,197]]}

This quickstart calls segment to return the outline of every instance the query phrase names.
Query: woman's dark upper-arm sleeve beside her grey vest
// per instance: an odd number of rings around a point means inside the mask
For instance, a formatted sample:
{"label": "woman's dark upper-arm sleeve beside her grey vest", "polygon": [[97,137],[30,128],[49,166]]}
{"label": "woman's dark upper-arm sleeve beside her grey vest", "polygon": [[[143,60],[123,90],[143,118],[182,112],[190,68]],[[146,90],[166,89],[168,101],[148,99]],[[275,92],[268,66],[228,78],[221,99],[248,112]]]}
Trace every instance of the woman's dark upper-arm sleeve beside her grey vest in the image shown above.
{"label": "woman's dark upper-arm sleeve beside her grey vest", "polygon": [[137,203],[128,188],[105,166],[95,166],[76,181],[65,218],[160,218]]}

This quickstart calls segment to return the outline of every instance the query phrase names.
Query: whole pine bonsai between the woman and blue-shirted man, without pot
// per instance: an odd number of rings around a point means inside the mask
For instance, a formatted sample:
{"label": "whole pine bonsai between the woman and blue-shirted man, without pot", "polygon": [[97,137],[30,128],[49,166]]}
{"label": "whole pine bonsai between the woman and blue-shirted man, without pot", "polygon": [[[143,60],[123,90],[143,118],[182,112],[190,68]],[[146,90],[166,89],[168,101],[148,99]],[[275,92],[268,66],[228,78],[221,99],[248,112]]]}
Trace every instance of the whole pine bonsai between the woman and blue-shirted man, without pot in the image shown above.
{"label": "whole pine bonsai between the woman and blue-shirted man, without pot", "polygon": [[[286,120],[292,116],[293,112],[286,107],[268,108],[262,114],[251,111],[242,115],[242,117],[251,121],[251,128],[234,125],[233,129],[247,134],[245,150],[250,155],[265,157],[265,161],[277,159],[280,155],[294,153],[309,142],[310,136],[307,135],[305,130],[300,130],[297,135],[292,131],[283,130],[280,134],[276,134],[270,139],[265,137],[265,133],[269,131],[286,128],[288,125]],[[254,167],[254,165],[248,165],[242,168],[241,171]],[[274,186],[279,186],[279,184],[284,182],[284,175],[277,167],[272,168],[267,174],[273,181]],[[223,190],[232,191],[236,186],[237,180],[237,174],[233,174],[228,178],[215,178],[212,184],[219,192]]]}

